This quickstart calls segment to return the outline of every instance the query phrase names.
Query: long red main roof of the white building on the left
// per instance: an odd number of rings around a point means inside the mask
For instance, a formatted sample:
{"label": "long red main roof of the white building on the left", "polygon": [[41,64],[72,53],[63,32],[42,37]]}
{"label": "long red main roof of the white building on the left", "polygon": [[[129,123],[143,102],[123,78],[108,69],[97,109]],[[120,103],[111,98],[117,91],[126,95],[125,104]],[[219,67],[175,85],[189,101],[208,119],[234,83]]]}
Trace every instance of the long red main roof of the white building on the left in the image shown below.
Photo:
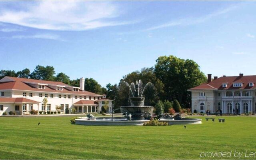
{"label": "long red main roof of the white building on the left", "polygon": [[79,90],[78,92],[70,91],[66,88],[63,88],[63,90],[55,90],[53,88],[50,88],[49,86],[45,86],[45,89],[38,89],[35,88],[28,83],[24,82],[33,82],[33,83],[42,83],[42,84],[53,84],[53,85],[61,85],[61,86],[68,86],[67,84],[64,84],[62,82],[54,82],[54,81],[47,81],[47,80],[34,80],[34,79],[28,79],[28,78],[16,78],[16,77],[4,77],[11,79],[13,81],[11,82],[0,82],[0,90],[28,90],[28,91],[40,91],[40,92],[56,92],[56,93],[67,93],[67,94],[82,94],[82,95],[92,95],[92,96],[102,96],[100,94],[88,92],[88,91],[82,91]]}

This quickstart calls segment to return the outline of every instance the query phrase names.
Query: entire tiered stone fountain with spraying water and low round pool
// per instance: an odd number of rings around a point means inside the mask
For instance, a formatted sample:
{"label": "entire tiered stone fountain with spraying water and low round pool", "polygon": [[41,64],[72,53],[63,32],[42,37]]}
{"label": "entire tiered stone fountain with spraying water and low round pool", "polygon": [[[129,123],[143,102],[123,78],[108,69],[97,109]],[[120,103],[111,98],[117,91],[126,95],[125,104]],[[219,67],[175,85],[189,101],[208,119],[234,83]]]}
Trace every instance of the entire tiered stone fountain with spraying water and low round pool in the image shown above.
{"label": "entire tiered stone fountain with spraying water and low round pool", "polygon": [[[122,82],[121,85],[129,87],[129,100],[130,106],[121,106],[120,109],[124,117],[114,117],[115,110],[112,110],[111,117],[94,117],[92,114],[87,114],[87,118],[76,119],[76,124],[81,125],[102,125],[102,126],[128,126],[128,125],[143,125],[145,122],[153,119],[153,109],[152,106],[144,106],[143,97],[144,90],[152,87],[153,84],[148,82],[144,88],[142,86],[141,80],[136,81],[136,85],[132,83],[129,85],[127,82]],[[118,110],[116,109],[116,110]],[[201,124],[200,119],[194,118],[182,118],[180,114],[176,116],[170,116],[169,114],[159,114],[155,116],[159,122],[168,122],[169,125],[172,124]]]}

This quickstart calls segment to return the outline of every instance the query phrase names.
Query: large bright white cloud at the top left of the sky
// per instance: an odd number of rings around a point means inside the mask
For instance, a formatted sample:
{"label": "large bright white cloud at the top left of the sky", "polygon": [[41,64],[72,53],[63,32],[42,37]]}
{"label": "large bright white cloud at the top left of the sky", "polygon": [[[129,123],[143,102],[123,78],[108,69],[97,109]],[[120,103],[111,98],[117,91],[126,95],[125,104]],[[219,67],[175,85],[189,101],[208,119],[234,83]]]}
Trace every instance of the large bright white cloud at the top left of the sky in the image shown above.
{"label": "large bright white cloud at the top left of the sky", "polygon": [[99,1],[37,1],[27,2],[20,10],[0,10],[1,22],[48,30],[88,30],[136,23],[113,20],[118,16],[117,6]]}

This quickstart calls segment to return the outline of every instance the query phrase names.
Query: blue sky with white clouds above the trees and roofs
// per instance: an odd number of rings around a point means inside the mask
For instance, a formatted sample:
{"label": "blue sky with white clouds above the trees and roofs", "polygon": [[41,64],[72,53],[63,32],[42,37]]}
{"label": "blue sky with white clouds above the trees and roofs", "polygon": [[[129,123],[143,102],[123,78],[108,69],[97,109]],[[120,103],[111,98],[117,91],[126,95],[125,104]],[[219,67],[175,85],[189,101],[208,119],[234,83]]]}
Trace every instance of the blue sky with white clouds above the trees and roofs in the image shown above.
{"label": "blue sky with white clouds above the trees and roofs", "polygon": [[192,59],[212,76],[256,75],[256,1],[0,1],[0,70],[54,66],[102,86]]}

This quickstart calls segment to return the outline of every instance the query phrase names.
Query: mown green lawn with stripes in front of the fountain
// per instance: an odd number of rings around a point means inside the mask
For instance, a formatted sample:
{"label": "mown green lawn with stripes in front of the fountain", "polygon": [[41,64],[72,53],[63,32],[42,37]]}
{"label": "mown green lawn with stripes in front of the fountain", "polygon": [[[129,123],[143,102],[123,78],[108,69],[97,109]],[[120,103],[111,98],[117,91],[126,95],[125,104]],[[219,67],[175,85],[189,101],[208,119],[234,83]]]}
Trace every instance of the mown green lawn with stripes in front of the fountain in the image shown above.
{"label": "mown green lawn with stripes in front of the fountain", "polygon": [[256,152],[252,116],[223,117],[225,123],[200,117],[202,124],[186,129],[183,125],[80,126],[70,124],[72,117],[1,116],[0,159],[222,159],[200,158],[200,153]]}

